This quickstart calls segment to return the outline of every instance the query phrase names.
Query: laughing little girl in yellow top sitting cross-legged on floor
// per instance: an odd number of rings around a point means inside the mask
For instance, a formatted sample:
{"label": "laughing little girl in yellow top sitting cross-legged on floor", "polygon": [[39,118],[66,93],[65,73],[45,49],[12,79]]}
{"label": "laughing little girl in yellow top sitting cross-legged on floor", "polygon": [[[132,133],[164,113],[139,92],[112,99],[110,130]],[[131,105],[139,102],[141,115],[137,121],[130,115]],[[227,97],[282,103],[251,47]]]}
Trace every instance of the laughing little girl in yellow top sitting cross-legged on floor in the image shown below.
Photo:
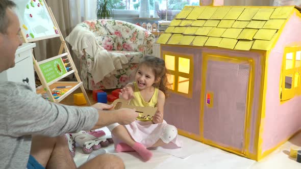
{"label": "laughing little girl in yellow top sitting cross-legged on floor", "polygon": [[152,120],[143,119],[139,115],[129,125],[117,123],[109,125],[115,143],[115,151],[137,151],[147,161],[153,154],[146,148],[168,144],[168,147],[179,148],[178,130],[163,120],[167,77],[164,60],[153,56],[145,56],[139,63],[135,81],[121,89],[119,97],[131,100],[130,105],[158,107]]}

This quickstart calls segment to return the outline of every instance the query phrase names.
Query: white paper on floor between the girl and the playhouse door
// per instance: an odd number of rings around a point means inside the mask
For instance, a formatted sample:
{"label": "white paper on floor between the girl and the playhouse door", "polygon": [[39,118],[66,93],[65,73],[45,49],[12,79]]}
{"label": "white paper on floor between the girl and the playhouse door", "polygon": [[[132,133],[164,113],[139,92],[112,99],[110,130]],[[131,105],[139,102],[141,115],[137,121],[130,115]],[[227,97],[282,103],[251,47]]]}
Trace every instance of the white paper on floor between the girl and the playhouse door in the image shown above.
{"label": "white paper on floor between the girl and the playhouse door", "polygon": [[178,139],[183,142],[183,147],[179,149],[167,149],[163,147],[158,147],[156,150],[161,151],[167,154],[170,154],[179,158],[187,158],[194,153],[203,152],[205,149],[208,149],[210,146],[205,145],[200,142],[195,142],[195,140],[178,135]]}

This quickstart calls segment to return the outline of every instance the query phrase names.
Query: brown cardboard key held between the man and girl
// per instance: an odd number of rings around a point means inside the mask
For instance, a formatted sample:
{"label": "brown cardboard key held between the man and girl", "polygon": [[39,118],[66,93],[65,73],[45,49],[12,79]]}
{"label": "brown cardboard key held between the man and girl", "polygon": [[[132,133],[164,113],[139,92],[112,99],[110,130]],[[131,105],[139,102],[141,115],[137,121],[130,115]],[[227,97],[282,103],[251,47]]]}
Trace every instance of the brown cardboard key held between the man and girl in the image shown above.
{"label": "brown cardboard key held between the man and girl", "polygon": [[157,112],[158,107],[141,107],[129,105],[130,101],[124,99],[116,99],[112,104],[114,105],[114,109],[118,110],[120,108],[135,108],[136,112],[139,112],[141,118],[152,120],[155,113]]}

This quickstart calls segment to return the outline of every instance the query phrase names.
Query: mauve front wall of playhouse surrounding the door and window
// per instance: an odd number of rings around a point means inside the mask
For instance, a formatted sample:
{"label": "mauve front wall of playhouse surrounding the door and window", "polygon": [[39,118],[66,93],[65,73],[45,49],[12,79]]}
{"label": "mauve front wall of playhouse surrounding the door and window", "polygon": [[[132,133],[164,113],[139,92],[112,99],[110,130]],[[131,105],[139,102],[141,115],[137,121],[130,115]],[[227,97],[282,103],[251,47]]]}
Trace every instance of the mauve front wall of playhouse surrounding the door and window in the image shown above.
{"label": "mauve front wall of playhouse surrounding the door and window", "polygon": [[[200,92],[202,89],[202,52],[208,52],[212,54],[227,55],[232,57],[249,57],[253,58],[256,63],[255,69],[255,81],[254,81],[254,99],[252,103],[252,112],[251,112],[251,127],[248,130],[250,134],[250,145],[249,150],[251,153],[254,152],[254,139],[255,139],[255,128],[256,128],[256,119],[258,116],[258,105],[259,105],[259,94],[261,87],[261,60],[259,53],[253,53],[250,51],[235,51],[235,50],[226,50],[226,49],[208,49],[208,48],[183,48],[179,46],[162,46],[162,51],[170,52],[179,52],[185,55],[193,54],[193,95],[192,98],[187,98],[179,94],[170,93],[170,97],[166,99],[165,108],[164,108],[164,119],[167,123],[172,124],[179,129],[188,131],[199,135],[199,115],[200,115]],[[229,79],[231,80],[231,79]],[[204,96],[205,97],[205,96]],[[212,124],[218,125],[218,124]]]}

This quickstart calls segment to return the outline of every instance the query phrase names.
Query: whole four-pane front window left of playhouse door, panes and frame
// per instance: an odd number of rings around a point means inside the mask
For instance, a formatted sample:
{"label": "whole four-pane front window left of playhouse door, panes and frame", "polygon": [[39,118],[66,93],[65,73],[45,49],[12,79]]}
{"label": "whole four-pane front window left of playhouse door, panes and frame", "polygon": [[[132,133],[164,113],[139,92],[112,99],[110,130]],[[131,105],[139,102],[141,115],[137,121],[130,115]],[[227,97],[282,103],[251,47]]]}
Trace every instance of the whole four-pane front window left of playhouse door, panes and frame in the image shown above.
{"label": "whole four-pane front window left of playhouse door, panes and frame", "polygon": [[169,74],[168,88],[175,93],[191,95],[192,88],[192,58],[177,54],[164,54],[166,68]]}

